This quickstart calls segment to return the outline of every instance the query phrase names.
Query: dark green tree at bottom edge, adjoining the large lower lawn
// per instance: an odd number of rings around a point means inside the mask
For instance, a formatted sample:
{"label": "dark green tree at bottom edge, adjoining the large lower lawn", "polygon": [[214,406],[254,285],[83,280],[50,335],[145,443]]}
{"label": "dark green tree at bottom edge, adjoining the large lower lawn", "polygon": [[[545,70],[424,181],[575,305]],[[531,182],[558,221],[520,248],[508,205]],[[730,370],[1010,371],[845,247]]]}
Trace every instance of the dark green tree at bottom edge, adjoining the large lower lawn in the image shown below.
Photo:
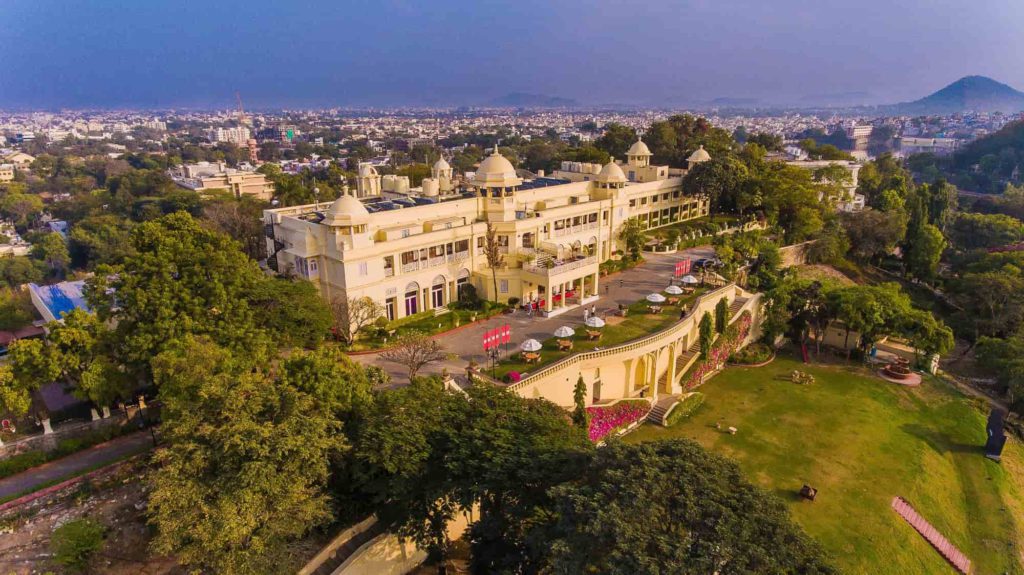
{"label": "dark green tree at bottom edge, adjoining the large lower lawn", "polygon": [[780,500],[690,441],[609,445],[552,496],[551,573],[836,573]]}

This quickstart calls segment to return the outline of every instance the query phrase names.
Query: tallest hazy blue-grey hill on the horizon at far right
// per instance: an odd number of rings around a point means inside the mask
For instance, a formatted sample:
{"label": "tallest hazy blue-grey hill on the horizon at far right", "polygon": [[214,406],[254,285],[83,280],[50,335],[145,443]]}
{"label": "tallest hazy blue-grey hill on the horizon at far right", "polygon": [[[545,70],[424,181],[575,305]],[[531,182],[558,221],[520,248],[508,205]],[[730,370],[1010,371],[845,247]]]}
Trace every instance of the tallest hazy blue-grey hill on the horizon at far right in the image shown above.
{"label": "tallest hazy blue-grey hill on the horizon at far right", "polygon": [[889,107],[891,113],[899,115],[1014,113],[1024,109],[1024,92],[984,76],[965,76],[930,96]]}

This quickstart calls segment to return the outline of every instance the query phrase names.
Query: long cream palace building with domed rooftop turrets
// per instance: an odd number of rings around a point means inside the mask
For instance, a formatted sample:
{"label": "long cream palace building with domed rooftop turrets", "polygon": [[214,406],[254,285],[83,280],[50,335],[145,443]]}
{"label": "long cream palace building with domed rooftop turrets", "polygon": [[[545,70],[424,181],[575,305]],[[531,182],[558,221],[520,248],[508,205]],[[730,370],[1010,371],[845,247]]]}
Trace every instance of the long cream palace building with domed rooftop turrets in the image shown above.
{"label": "long cream palace building with domed rooftop turrets", "polygon": [[[689,167],[710,159],[698,152]],[[598,264],[620,250],[628,219],[655,228],[708,215],[707,201],[682,191],[686,170],[651,166],[639,140],[627,157],[546,177],[517,172],[496,148],[465,181],[441,159],[416,188],[360,166],[357,197],[264,211],[268,265],[329,301],[369,297],[392,320],[443,308],[466,284],[557,315],[597,297]],[[494,270],[488,229],[502,259]]]}

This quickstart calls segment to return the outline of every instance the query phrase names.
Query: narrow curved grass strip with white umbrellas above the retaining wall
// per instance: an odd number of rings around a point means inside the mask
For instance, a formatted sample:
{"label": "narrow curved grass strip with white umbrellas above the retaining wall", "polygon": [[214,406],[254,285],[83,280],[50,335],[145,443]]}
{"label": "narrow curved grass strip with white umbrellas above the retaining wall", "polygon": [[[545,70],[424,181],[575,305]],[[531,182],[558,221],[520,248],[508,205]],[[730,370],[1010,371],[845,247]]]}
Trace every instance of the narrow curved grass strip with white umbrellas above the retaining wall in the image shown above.
{"label": "narrow curved grass strip with white umbrellas above the retaining wall", "polygon": [[[700,296],[700,294],[706,291],[707,290],[705,288],[698,288],[690,295],[675,297],[679,298],[679,305],[689,306],[694,300],[697,299],[698,296]],[[518,371],[519,373],[532,372],[541,367],[544,367],[545,365],[550,365],[563,357],[567,357],[572,353],[592,351],[596,347],[607,348],[624,344],[660,329],[665,329],[679,320],[679,306],[663,304],[662,313],[658,314],[647,313],[650,304],[645,300],[631,304],[629,306],[629,311],[626,313],[626,319],[623,320],[622,323],[615,325],[605,325],[599,329],[601,331],[601,339],[594,342],[587,340],[587,330],[585,327],[582,325],[574,325],[572,322],[566,321],[566,325],[577,328],[577,335],[571,338],[573,342],[571,352],[558,351],[558,340],[560,338],[552,336],[551,338],[541,342],[541,344],[544,345],[544,348],[540,352],[541,361],[539,363],[531,363],[528,365],[523,363],[521,355],[518,351],[516,351],[510,354],[507,359],[498,363],[497,369],[495,370],[496,377],[501,379],[509,371]],[[484,371],[487,373],[490,372],[486,369],[484,369]]]}

